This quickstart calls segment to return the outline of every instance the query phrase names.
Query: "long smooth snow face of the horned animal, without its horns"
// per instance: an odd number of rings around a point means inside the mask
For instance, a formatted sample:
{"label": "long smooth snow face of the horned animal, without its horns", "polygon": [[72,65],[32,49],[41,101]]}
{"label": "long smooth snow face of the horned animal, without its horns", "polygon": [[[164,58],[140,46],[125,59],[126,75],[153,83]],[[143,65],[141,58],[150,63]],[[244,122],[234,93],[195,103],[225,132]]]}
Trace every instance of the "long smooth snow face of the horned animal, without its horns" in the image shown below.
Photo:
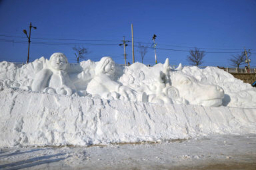
{"label": "long smooth snow face of the horned animal, without its horns", "polygon": [[179,90],[179,95],[192,105],[222,105],[224,91],[217,85],[202,83],[180,71],[171,75],[171,83]]}

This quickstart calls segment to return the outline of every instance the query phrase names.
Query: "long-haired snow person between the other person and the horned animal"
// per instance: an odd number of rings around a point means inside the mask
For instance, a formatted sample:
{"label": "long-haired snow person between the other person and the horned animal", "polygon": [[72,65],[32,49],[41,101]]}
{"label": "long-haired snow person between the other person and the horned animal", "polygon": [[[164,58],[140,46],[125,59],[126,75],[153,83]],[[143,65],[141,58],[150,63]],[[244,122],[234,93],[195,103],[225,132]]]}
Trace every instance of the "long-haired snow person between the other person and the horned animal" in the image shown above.
{"label": "long-haired snow person between the other person and the horned animal", "polygon": [[134,91],[116,81],[115,62],[111,57],[103,57],[95,67],[95,77],[87,85],[87,93],[103,99],[122,99],[136,101]]}

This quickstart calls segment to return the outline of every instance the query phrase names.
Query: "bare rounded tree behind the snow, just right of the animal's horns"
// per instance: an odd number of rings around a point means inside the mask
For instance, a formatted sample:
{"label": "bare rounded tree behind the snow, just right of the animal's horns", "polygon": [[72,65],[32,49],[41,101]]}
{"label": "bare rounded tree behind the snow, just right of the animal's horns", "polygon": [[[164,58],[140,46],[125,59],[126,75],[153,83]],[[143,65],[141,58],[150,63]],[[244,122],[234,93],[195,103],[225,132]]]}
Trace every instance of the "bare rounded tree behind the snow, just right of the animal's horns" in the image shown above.
{"label": "bare rounded tree behind the snow, just right of the animal's horns", "polygon": [[189,63],[191,65],[201,65],[203,63],[203,57],[205,57],[205,51],[199,51],[199,49],[197,49],[197,47],[195,47],[195,49],[192,49],[191,51],[189,51],[189,54],[187,56],[187,61],[189,61]]}

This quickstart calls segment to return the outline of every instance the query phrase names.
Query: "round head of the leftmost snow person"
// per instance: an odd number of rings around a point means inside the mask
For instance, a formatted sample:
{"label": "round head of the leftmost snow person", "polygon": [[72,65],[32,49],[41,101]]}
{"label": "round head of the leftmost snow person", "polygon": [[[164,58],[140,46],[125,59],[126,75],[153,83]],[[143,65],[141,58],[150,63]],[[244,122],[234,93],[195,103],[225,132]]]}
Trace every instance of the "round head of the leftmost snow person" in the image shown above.
{"label": "round head of the leftmost snow person", "polygon": [[63,53],[53,53],[50,57],[50,65],[54,70],[66,70],[68,66],[67,57]]}

